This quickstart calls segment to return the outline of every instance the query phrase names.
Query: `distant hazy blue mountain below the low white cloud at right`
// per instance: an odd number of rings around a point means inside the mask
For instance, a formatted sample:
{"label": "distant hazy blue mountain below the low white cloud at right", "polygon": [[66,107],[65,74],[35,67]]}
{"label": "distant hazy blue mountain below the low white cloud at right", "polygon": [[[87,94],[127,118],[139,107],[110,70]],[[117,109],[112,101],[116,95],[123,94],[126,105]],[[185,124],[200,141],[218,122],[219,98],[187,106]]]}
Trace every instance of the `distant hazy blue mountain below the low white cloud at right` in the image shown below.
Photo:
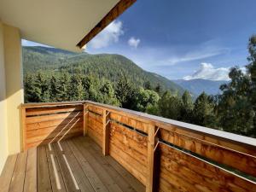
{"label": "distant hazy blue mountain below the low white cloud at right", "polygon": [[228,83],[228,81],[212,81],[206,79],[178,79],[172,81],[182,86],[184,90],[189,90],[197,96],[200,95],[202,91],[205,91],[208,95],[217,95],[221,93],[219,86]]}

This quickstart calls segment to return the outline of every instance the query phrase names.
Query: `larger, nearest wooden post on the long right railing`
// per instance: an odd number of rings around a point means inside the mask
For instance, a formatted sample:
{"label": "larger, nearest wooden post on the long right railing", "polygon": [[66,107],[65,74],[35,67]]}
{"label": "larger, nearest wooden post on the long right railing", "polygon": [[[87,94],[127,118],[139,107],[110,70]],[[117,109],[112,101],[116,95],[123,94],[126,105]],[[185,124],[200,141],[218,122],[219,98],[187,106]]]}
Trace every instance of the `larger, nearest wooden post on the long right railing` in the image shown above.
{"label": "larger, nearest wooden post on the long right railing", "polygon": [[148,125],[148,178],[146,183],[146,192],[156,191],[156,174],[158,172],[158,158],[156,158],[156,149],[158,146],[158,127]]}

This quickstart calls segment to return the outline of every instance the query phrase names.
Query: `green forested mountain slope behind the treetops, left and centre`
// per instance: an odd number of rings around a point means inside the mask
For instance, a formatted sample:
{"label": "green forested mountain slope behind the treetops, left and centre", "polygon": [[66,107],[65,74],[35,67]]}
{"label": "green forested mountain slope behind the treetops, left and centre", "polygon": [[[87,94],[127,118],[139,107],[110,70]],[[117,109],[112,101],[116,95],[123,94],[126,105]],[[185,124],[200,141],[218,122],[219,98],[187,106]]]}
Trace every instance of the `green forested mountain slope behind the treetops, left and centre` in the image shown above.
{"label": "green forested mountain slope behind the treetops, left and centre", "polygon": [[164,90],[183,93],[183,88],[159,74],[149,73],[123,55],[73,53],[49,47],[23,47],[24,73],[76,73],[96,75],[117,82],[124,75],[137,85],[145,82],[155,87],[161,84]]}

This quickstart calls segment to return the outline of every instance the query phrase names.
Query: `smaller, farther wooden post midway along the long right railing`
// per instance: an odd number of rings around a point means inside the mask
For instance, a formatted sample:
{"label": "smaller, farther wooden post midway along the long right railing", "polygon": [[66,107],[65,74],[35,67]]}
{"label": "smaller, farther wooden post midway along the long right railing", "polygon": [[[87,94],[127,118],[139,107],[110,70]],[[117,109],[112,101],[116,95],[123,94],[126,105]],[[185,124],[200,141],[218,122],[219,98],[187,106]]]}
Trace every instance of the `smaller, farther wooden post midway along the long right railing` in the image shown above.
{"label": "smaller, farther wooden post midway along the long right railing", "polygon": [[109,154],[109,121],[110,112],[103,110],[103,138],[102,138],[102,154]]}

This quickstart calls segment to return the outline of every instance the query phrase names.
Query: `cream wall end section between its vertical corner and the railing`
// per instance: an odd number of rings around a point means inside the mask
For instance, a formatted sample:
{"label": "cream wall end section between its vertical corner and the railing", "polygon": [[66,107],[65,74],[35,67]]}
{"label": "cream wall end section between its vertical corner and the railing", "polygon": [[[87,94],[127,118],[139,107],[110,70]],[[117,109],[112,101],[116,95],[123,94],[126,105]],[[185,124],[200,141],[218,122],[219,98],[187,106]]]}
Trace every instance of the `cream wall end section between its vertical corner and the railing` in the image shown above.
{"label": "cream wall end section between its vertical corner and the railing", "polygon": [[18,28],[3,25],[3,29],[8,148],[9,154],[15,154],[20,152],[22,146],[20,104],[24,102],[24,96],[21,38]]}

